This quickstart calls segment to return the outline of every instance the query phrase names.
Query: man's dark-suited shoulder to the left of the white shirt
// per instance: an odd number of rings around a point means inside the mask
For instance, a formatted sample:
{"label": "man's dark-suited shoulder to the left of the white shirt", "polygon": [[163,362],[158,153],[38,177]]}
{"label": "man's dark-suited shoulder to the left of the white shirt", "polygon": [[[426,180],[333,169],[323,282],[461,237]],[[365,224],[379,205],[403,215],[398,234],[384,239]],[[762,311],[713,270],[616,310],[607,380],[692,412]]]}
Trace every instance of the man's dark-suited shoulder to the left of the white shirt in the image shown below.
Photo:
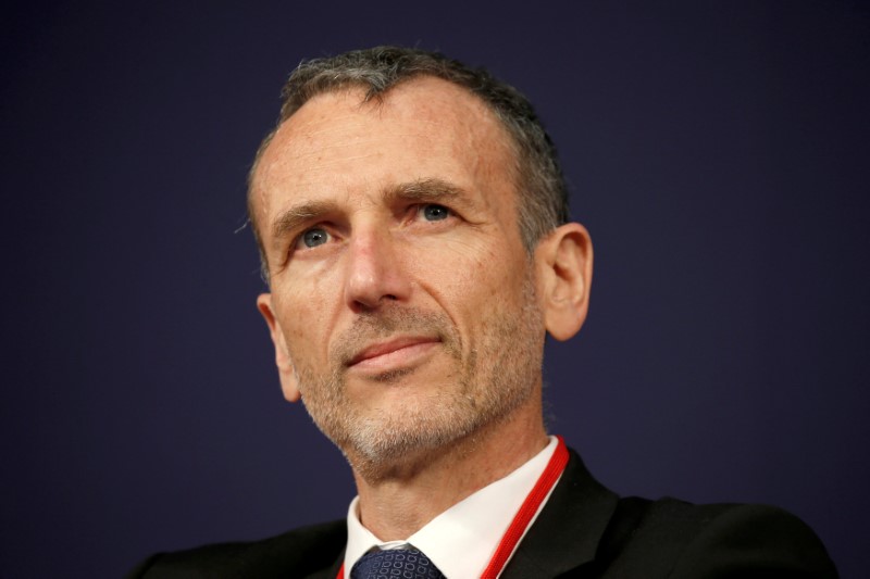
{"label": "man's dark-suited shoulder to the left of the white shirt", "polygon": [[344,520],[335,520],[261,541],[216,543],[159,553],[141,562],[126,577],[309,577],[319,571],[328,576],[325,571],[338,562],[346,542],[347,526]]}

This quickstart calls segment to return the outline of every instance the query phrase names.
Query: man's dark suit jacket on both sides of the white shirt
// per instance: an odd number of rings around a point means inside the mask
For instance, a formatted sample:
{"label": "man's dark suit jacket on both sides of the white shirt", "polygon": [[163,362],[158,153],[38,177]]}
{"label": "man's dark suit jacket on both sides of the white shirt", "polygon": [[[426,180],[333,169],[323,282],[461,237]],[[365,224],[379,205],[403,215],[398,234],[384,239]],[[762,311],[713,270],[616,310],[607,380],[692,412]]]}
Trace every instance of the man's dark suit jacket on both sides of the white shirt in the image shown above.
{"label": "man's dark suit jacket on both sides of the white shirt", "polygon": [[[336,520],[251,543],[153,555],[127,577],[333,579],[346,541],[345,521]],[[784,511],[620,499],[598,483],[571,451],[562,478],[501,577],[829,578],[837,574],[812,530]]]}

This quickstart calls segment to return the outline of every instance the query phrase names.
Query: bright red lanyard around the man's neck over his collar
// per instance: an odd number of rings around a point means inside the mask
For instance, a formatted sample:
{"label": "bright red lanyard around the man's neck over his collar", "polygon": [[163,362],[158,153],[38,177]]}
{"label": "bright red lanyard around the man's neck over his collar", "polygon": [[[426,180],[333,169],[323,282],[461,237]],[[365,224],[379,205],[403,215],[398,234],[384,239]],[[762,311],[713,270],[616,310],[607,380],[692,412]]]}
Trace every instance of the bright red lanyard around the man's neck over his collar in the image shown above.
{"label": "bright red lanyard around the man's neck over his collar", "polygon": [[[508,530],[505,532],[504,537],[501,537],[496,553],[493,555],[493,558],[489,559],[489,565],[484,569],[481,579],[495,579],[498,577],[498,574],[505,569],[508,558],[510,558],[513,550],[517,549],[517,543],[520,542],[523,533],[525,533],[525,529],[529,528],[532,517],[534,517],[535,513],[540,508],[540,503],[544,502],[544,499],[546,499],[550,490],[552,490],[559,477],[562,476],[564,466],[568,464],[568,448],[564,445],[562,437],[557,436],[556,438],[558,439],[556,452],[552,453],[550,462],[547,463],[547,468],[540,474],[532,492],[529,493],[525,501],[523,501],[523,504],[520,506],[520,509],[513,516],[510,527],[508,527]],[[338,569],[338,577],[336,577],[336,579],[344,579],[344,577],[345,564],[343,563],[341,568]]]}

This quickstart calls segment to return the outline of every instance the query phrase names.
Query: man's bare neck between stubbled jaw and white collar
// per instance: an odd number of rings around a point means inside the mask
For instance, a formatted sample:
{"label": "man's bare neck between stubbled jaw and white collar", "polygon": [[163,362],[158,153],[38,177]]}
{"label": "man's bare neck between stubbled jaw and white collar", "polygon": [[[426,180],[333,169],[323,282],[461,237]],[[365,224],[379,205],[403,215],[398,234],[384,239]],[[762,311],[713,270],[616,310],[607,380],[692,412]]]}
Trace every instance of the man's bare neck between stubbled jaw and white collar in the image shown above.
{"label": "man's bare neck between stubbled jaw and white collar", "polygon": [[539,401],[517,411],[447,448],[406,458],[386,476],[365,478],[355,469],[360,521],[382,541],[405,540],[522,466],[546,446],[547,436]]}

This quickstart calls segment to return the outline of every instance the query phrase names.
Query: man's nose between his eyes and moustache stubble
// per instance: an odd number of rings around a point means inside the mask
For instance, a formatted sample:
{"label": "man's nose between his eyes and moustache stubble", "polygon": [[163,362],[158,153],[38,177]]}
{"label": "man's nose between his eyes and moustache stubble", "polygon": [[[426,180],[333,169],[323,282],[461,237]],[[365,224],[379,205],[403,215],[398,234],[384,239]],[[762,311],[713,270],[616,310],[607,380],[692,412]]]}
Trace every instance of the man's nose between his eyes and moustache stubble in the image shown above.
{"label": "man's nose between his eyes and moustache stubble", "polygon": [[411,284],[400,241],[389,231],[357,231],[348,248],[345,301],[355,312],[376,310],[387,301],[407,300]]}

